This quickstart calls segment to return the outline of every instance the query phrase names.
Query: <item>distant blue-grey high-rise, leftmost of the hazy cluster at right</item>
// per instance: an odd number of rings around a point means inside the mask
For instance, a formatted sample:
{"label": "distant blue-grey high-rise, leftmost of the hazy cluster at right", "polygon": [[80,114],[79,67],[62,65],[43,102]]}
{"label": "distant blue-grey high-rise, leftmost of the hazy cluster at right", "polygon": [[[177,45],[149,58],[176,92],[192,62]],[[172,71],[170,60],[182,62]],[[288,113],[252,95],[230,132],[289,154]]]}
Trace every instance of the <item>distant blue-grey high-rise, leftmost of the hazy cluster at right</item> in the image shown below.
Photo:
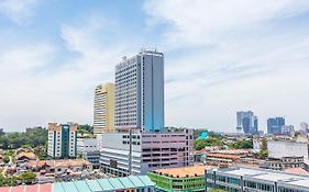
{"label": "distant blue-grey high-rise, leftmost of the hazy cluster at right", "polygon": [[238,132],[245,134],[256,134],[258,132],[257,116],[252,111],[240,111],[236,113]]}

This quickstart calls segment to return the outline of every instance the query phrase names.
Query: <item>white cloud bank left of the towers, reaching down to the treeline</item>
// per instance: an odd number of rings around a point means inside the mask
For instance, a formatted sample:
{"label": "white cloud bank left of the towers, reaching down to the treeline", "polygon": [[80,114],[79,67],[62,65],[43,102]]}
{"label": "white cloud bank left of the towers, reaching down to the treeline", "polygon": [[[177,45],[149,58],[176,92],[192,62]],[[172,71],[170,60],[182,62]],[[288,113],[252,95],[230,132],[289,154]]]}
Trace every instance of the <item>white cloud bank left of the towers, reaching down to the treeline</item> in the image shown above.
{"label": "white cloud bank left of the towers, reaching down to the treeline", "polygon": [[114,65],[128,53],[125,44],[104,42],[110,37],[101,34],[108,26],[102,19],[89,16],[60,26],[64,46],[34,42],[0,50],[0,127],[91,124],[96,86],[113,81]]}

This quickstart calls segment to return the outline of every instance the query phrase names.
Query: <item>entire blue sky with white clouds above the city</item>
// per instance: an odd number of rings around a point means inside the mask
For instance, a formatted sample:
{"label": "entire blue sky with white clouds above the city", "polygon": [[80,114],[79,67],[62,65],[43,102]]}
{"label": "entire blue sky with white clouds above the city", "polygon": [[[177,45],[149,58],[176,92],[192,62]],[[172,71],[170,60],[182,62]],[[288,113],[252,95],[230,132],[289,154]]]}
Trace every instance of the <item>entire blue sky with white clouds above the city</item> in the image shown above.
{"label": "entire blue sky with white clouds above the city", "polygon": [[309,122],[308,0],[0,0],[0,127],[92,124],[122,56],[165,54],[165,124]]}

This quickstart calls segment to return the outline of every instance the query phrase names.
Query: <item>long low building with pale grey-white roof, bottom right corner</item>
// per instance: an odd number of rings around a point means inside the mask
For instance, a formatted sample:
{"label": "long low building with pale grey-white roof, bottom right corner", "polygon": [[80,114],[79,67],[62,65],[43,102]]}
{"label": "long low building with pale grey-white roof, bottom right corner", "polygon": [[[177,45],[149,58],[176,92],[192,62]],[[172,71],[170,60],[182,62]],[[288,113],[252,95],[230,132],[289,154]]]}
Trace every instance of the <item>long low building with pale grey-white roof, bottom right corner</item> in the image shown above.
{"label": "long low building with pale grey-white roof, bottom right corner", "polygon": [[308,192],[309,177],[253,168],[206,170],[206,191],[214,188],[231,192]]}

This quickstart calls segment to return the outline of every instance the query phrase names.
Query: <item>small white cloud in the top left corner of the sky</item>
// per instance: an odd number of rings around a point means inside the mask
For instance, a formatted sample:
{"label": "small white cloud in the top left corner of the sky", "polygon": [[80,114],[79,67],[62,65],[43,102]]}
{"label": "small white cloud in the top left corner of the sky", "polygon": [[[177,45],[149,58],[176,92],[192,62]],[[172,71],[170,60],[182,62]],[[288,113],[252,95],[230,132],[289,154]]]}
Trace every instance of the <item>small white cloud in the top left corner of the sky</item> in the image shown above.
{"label": "small white cloud in the top left corner of the sky", "polygon": [[13,22],[22,24],[32,16],[32,9],[37,5],[40,0],[1,0],[0,14],[8,16]]}

